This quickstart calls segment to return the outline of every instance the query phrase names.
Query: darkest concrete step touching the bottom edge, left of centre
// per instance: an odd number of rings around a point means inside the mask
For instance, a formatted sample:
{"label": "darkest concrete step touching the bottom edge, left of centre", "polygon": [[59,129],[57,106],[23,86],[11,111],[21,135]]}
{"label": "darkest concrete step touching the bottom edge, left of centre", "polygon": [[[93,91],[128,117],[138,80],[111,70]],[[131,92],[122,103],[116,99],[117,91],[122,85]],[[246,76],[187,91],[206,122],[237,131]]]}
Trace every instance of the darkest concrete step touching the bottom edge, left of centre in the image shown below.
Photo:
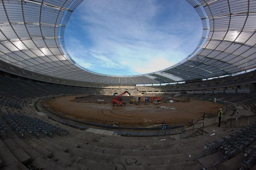
{"label": "darkest concrete step touching the bottom edge, left of centre", "polygon": [[43,170],[74,170],[73,168],[61,165],[54,160],[51,160],[45,156],[41,156],[31,163],[32,167]]}

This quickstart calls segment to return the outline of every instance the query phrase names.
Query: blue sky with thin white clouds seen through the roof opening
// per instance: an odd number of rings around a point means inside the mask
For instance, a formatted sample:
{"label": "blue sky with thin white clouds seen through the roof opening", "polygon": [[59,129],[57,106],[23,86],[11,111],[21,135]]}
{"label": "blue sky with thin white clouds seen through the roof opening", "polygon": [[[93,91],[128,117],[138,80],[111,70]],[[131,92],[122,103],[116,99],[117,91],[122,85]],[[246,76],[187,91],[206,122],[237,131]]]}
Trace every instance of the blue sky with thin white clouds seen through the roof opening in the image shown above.
{"label": "blue sky with thin white clouds seen through the roof opening", "polygon": [[84,0],[67,23],[65,43],[88,70],[138,75],[180,62],[201,33],[200,18],[185,0]]}

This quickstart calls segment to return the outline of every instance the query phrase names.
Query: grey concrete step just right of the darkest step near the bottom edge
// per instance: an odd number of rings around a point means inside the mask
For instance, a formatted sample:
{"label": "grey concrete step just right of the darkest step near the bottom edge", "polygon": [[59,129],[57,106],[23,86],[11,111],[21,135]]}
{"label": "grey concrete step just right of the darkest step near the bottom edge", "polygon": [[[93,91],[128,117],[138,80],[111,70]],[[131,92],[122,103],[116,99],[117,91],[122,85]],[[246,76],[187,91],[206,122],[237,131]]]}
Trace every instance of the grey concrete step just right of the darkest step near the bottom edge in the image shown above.
{"label": "grey concrete step just right of the darkest step near the bottom edge", "polygon": [[57,163],[69,167],[72,163],[75,162],[76,159],[82,159],[82,157],[76,157],[66,152],[57,152],[51,157],[52,160]]}

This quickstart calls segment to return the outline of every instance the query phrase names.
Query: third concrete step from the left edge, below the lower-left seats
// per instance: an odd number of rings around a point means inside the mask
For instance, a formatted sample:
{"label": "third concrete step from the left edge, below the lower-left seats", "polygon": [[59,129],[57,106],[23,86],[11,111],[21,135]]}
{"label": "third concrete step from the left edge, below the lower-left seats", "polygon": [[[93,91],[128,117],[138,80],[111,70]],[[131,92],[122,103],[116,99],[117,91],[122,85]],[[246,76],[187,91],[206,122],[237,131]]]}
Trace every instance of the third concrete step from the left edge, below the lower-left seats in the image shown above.
{"label": "third concrete step from the left edge, below the lower-left seats", "polygon": [[32,161],[42,156],[41,153],[31,148],[29,145],[27,145],[27,143],[25,143],[23,140],[19,138],[13,139],[13,142],[15,142],[16,145],[18,145],[22,150],[24,150],[24,152],[26,152],[30,156]]}

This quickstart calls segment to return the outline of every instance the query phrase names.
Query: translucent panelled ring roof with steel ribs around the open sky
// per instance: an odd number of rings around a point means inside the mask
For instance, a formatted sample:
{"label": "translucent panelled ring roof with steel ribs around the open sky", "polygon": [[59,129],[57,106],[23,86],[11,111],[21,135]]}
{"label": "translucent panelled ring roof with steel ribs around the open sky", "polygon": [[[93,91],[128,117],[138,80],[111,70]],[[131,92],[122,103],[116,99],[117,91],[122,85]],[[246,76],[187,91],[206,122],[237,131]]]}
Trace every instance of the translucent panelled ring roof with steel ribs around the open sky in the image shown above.
{"label": "translucent panelled ring roof with steel ribs around the open sky", "polygon": [[[256,0],[187,0],[202,20],[195,50],[172,67],[136,76],[86,70],[69,56],[65,25],[83,0],[0,0],[0,69],[91,83],[151,84],[218,77],[256,67]],[[184,56],[181,56],[184,58]],[[17,72],[17,71],[16,71]]]}

